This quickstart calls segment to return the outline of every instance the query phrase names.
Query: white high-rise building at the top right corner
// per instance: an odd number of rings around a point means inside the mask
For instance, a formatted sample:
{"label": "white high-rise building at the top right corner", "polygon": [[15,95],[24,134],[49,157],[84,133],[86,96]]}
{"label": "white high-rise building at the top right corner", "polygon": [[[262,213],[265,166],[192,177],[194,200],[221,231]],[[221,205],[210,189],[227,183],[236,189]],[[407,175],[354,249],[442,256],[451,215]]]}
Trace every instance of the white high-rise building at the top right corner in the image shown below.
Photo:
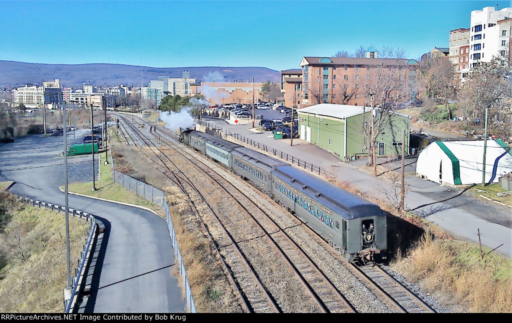
{"label": "white high-rise building at the top right corner", "polygon": [[508,56],[512,8],[485,7],[471,12],[470,67]]}

